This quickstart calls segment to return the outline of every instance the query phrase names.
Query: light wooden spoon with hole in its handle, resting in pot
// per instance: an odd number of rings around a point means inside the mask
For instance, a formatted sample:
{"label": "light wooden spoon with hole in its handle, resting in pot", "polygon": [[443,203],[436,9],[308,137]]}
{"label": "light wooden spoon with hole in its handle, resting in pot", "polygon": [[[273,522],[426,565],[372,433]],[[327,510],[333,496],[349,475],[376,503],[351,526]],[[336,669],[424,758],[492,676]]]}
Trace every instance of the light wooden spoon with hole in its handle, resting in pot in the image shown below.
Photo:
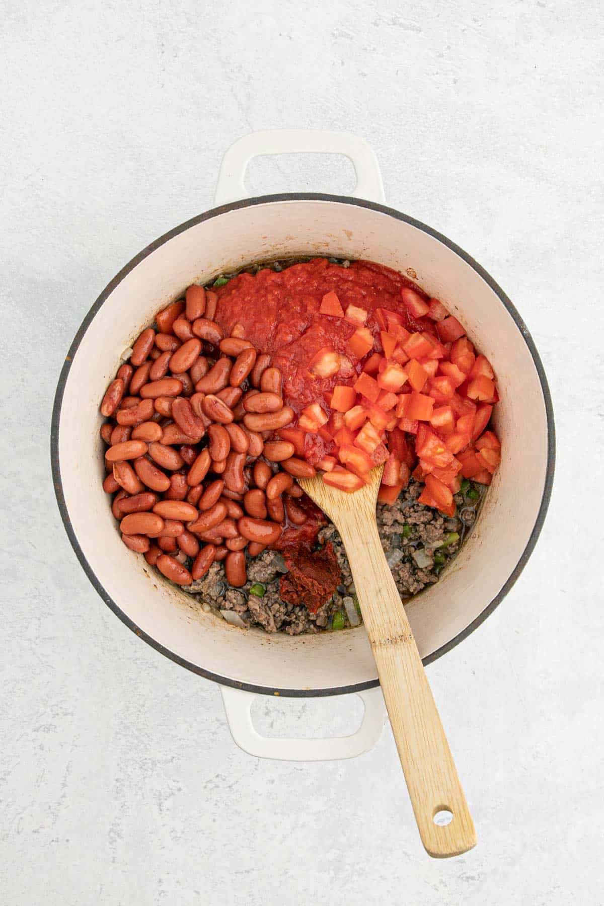
{"label": "light wooden spoon with hole in its handle, resting in pot", "polygon": [[[298,482],[340,532],[419,835],[427,853],[445,858],[472,849],[476,834],[424,665],[379,540],[376,501],[382,471],[383,466],[372,469],[369,484],[354,494],[326,485],[321,475],[298,478]],[[453,815],[449,824],[436,823],[442,820],[438,813],[443,812]]]}

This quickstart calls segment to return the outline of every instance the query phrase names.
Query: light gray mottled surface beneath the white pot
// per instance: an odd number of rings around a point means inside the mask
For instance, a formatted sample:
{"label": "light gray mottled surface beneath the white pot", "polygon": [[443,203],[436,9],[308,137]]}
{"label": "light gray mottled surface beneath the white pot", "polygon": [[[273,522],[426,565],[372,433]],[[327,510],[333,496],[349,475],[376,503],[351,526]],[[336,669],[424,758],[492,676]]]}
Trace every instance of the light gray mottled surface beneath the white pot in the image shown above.
{"label": "light gray mottled surface beneath the white pot", "polygon": [[[600,10],[5,0],[3,902],[604,901]],[[428,671],[479,836],[444,863],[422,851],[389,732],[350,762],[245,756],[217,687],[97,597],[54,503],[54,386],[84,313],[140,248],[211,205],[232,140],[286,126],[369,139],[388,202],[494,275],[550,378],[558,472],[541,541],[494,615]],[[256,162],[250,177],[256,191],[350,185],[323,159]],[[359,708],[258,711],[264,727],[327,733]]]}

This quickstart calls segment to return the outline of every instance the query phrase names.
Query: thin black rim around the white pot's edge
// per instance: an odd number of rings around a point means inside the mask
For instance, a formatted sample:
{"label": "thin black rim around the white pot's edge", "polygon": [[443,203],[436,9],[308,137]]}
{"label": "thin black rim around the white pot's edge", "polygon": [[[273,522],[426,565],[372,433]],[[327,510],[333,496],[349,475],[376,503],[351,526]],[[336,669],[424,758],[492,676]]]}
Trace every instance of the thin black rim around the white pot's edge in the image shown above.
{"label": "thin black rim around the white pot's edge", "polygon": [[272,687],[267,686],[256,686],[254,685],[254,683],[238,682],[235,679],[223,677],[220,674],[214,673],[210,670],[204,670],[203,668],[198,667],[197,664],[191,663],[190,661],[179,657],[173,651],[169,651],[169,649],[162,645],[161,642],[153,639],[146,632],[142,631],[135,622],[130,620],[126,613],[124,613],[120,609],[118,604],[113,601],[113,599],[99,582],[99,579],[93,572],[91,565],[88,563],[88,560],[86,559],[86,556],[81,549],[75,532],[73,531],[72,522],[63,496],[61,463],[59,460],[59,422],[61,419],[62,397],[71,368],[71,363],[73,361],[75,353],[78,351],[82,337],[88,330],[92,319],[101,308],[101,305],[116,288],[116,286],[120,284],[124,277],[128,275],[134,267],[139,265],[139,263],[152,252],[156,251],[159,246],[163,246],[164,243],[168,242],[169,239],[172,239],[179,233],[184,232],[189,227],[196,226],[197,224],[202,223],[205,220],[210,220],[213,217],[219,217],[220,215],[225,214],[228,211],[236,211],[244,207],[253,207],[255,205],[264,205],[281,201],[331,201],[337,202],[339,204],[355,205],[356,207],[368,207],[371,210],[379,211],[380,213],[387,214],[390,217],[395,217],[397,220],[402,220],[410,226],[417,227],[417,229],[422,230],[429,236],[433,236],[439,242],[443,243],[443,245],[447,246],[453,252],[455,252],[456,255],[459,255],[459,257],[461,257],[467,265],[470,265],[475,270],[475,272],[484,279],[484,282],[494,290],[494,293],[497,294],[507,311],[512,316],[514,323],[522,333],[523,340],[528,346],[529,352],[531,352],[532,361],[534,362],[535,368],[539,375],[539,381],[542,387],[543,401],[545,404],[547,416],[548,454],[547,469],[545,474],[545,481],[543,484],[542,502],[539,508],[539,513],[535,520],[535,524],[532,528],[532,533],[529,537],[526,547],[523,550],[522,556],[513,569],[513,572],[510,574],[507,582],[504,583],[501,591],[494,597],[493,601],[488,603],[484,610],[475,618],[475,620],[468,626],[466,626],[463,631],[459,632],[455,636],[455,638],[453,638],[451,641],[448,641],[446,645],[441,646],[441,648],[437,649],[436,651],[433,651],[433,653],[428,655],[427,658],[424,658],[424,664],[430,664],[434,660],[442,657],[443,654],[446,654],[447,651],[451,651],[453,648],[455,648],[456,645],[459,644],[460,641],[464,641],[464,639],[467,638],[468,635],[474,632],[475,629],[477,629],[481,625],[481,623],[483,623],[484,620],[486,620],[486,618],[494,612],[494,609],[497,607],[497,605],[503,601],[505,595],[510,591],[513,584],[523,572],[523,568],[526,565],[529,557],[531,556],[532,550],[537,542],[539,535],[541,534],[542,525],[547,514],[548,506],[550,504],[551,487],[553,483],[553,473],[556,458],[555,427],[550,389],[548,387],[547,378],[545,376],[545,371],[543,370],[539,352],[537,352],[535,344],[532,340],[531,333],[529,333],[522,317],[520,316],[508,296],[503,292],[501,286],[499,286],[499,284],[494,281],[493,277],[484,270],[484,267],[479,265],[471,255],[468,255],[467,252],[464,251],[464,249],[455,245],[454,242],[452,242],[446,236],[443,236],[441,233],[438,233],[430,226],[421,223],[414,217],[408,217],[406,214],[401,214],[400,211],[396,210],[395,208],[387,207],[385,205],[380,205],[376,202],[366,201],[360,198],[351,198],[349,196],[340,195],[326,195],[318,192],[290,192],[275,195],[263,195],[258,196],[257,198],[244,198],[242,201],[234,201],[230,204],[222,205],[221,207],[211,208],[210,210],[198,215],[197,217],[192,217],[190,220],[187,220],[180,226],[174,227],[174,229],[169,230],[169,232],[165,233],[163,236],[159,236],[158,239],[156,239],[149,246],[139,252],[139,255],[135,255],[135,257],[133,257],[127,265],[122,267],[120,273],[113,277],[110,283],[107,284],[105,289],[102,291],[96,302],[91,306],[90,311],[86,314],[84,320],[81,323],[78,333],[76,333],[75,337],[73,338],[72,345],[69,349],[69,352],[67,353],[67,356],[65,357],[65,361],[62,366],[62,371],[57,384],[53,405],[53,419],[51,424],[51,465],[53,470],[54,493],[57,499],[57,504],[59,506],[59,511],[61,513],[62,522],[65,526],[65,531],[67,532],[69,540],[72,544],[72,548],[78,560],[80,561],[81,567],[84,573],[86,573],[86,575],[90,579],[96,591],[101,595],[102,600],[108,605],[108,607],[110,607],[110,609],[116,614],[116,616],[120,618],[121,622],[125,623],[125,625],[128,626],[129,629],[136,635],[138,635],[140,639],[146,641],[152,648],[156,649],[156,651],[159,651],[170,660],[174,660],[181,667],[186,667],[187,670],[192,670],[194,673],[197,673],[199,674],[199,676],[203,676],[206,679],[213,679],[215,682],[220,683],[221,685],[231,686],[235,689],[246,689],[249,692],[256,692],[261,695],[280,695],[290,698],[318,698],[321,696],[344,695],[351,692],[360,692],[364,689],[372,689],[379,685],[379,679],[374,679],[369,682],[363,683],[353,683],[349,686],[332,687],[328,689],[273,689]]}

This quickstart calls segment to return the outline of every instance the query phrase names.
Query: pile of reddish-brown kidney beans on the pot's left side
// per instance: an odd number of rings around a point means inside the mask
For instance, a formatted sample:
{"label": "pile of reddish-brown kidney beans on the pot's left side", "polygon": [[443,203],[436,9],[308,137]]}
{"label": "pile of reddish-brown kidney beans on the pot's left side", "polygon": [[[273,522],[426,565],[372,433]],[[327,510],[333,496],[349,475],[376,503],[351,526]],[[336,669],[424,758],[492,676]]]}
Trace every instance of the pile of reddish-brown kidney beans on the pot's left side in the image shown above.
{"label": "pile of reddish-brown kidney beans on the pot's left side", "polygon": [[[244,338],[213,320],[217,296],[189,286],[132,347],[101,402],[111,509],[127,547],[172,582],[189,585],[214,561],[246,581],[256,556],[280,537],[285,518],[302,525],[294,477],[315,469],[294,445],[269,440],[294,418],[282,376]],[[193,557],[189,572],[187,558]]]}

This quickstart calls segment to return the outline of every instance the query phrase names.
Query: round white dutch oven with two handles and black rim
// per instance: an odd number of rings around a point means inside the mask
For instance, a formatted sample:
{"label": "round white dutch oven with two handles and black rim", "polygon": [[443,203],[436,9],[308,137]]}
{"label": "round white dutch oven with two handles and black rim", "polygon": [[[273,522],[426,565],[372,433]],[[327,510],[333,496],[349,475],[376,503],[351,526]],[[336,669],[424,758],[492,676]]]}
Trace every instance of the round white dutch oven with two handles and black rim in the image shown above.
{"label": "round white dutch oven with two handles and black rim", "polygon": [[[348,156],[352,198],[291,194],[244,198],[244,170],[258,154],[321,151]],[[360,200],[360,199],[370,200]],[[465,324],[492,361],[501,402],[495,427],[503,459],[475,530],[436,585],[407,605],[420,654],[435,660],[483,622],[522,571],[548,506],[554,465],[551,400],[542,363],[513,304],[462,249],[384,207],[367,143],[322,131],[248,135],[225,154],[213,210],[142,251],[93,304],[62,369],[53,411],[53,477],[80,563],[120,620],[183,667],[221,683],[235,741],[254,755],[351,757],[379,737],[383,700],[365,631],[312,636],[239,630],[201,611],[120,542],[107,496],[99,401],[120,355],[160,308],[192,283],[289,255],[366,258],[412,275]],[[252,725],[250,693],[326,696],[357,692],[359,731],[338,739],[265,739]]]}

